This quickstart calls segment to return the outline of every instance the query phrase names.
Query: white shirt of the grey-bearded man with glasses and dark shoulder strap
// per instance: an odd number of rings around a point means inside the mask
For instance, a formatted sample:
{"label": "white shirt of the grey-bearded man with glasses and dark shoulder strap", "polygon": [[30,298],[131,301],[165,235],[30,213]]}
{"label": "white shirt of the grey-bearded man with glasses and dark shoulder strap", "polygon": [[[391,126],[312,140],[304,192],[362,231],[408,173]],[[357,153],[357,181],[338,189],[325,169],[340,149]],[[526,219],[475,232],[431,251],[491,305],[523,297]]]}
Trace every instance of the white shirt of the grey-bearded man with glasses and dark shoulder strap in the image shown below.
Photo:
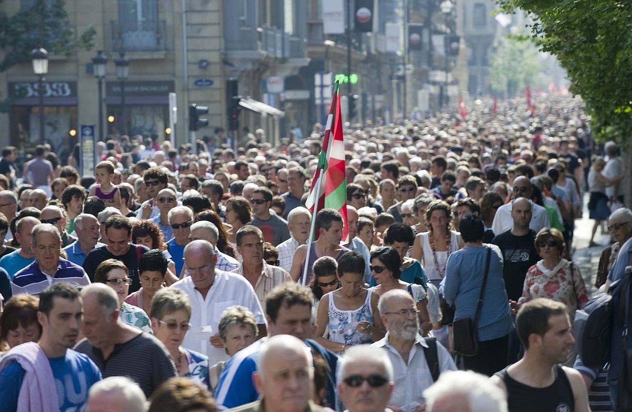
{"label": "white shirt of the grey-bearded man with glasses and dark shoulder strap", "polygon": [[[391,396],[391,403],[398,406],[398,408],[402,408],[412,402],[425,403],[422,396],[423,391],[434,384],[432,373],[430,373],[430,368],[428,368],[428,362],[426,361],[426,355],[423,352],[423,348],[428,348],[428,344],[423,340],[423,337],[417,335],[415,344],[413,344],[408,354],[408,361],[404,362],[397,349],[389,344],[388,339],[389,334],[387,332],[386,336],[371,346],[384,348],[393,365],[395,389]],[[437,342],[437,355],[440,373],[446,370],[456,370],[452,356],[439,342]]]}

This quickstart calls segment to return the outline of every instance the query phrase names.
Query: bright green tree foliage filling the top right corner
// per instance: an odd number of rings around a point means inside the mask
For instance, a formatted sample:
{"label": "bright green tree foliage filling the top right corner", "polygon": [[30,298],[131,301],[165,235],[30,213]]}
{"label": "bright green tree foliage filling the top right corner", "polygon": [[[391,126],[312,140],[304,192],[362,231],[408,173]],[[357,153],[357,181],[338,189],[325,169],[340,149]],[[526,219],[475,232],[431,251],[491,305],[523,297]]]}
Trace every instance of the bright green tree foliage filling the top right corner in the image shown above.
{"label": "bright green tree foliage filling the top right corner", "polygon": [[568,73],[602,139],[632,135],[632,8],[614,0],[498,0],[532,13],[532,38]]}

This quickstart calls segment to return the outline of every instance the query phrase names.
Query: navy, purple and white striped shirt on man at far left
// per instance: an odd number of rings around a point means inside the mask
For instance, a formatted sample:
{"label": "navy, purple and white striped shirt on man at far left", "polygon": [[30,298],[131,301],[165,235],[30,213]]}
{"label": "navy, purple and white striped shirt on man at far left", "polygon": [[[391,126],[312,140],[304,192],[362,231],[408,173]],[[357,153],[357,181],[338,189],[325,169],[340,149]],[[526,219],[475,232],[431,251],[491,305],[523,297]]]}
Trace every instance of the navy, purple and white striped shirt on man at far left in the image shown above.
{"label": "navy, purple and white striped shirt on man at far left", "polygon": [[43,273],[37,260],[34,260],[32,264],[15,274],[13,281],[11,281],[11,291],[14,295],[20,293],[40,294],[51,284],[58,282],[87,286],[90,284],[90,279],[81,266],[62,257],[59,258],[57,270],[53,276]]}

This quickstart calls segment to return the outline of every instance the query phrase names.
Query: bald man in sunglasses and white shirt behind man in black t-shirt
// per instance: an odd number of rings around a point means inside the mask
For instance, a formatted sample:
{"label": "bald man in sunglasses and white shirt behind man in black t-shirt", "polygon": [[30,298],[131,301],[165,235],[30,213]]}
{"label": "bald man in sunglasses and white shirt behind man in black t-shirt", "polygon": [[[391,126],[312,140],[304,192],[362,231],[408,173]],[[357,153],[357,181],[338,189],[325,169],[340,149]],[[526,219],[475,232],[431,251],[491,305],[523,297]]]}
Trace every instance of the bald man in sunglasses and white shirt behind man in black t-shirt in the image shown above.
{"label": "bald man in sunglasses and white shirt behind man in black t-shirt", "polygon": [[[550,227],[549,215],[544,207],[533,203],[531,195],[533,193],[533,186],[531,181],[526,176],[518,176],[513,181],[513,192],[511,197],[513,200],[524,197],[529,199],[531,203],[532,217],[529,227],[533,229],[535,233],[538,233],[543,227]],[[492,222],[492,231],[494,234],[501,234],[513,227],[513,217],[511,217],[511,209],[513,208],[512,202],[502,205],[496,210],[494,216],[494,222]]]}

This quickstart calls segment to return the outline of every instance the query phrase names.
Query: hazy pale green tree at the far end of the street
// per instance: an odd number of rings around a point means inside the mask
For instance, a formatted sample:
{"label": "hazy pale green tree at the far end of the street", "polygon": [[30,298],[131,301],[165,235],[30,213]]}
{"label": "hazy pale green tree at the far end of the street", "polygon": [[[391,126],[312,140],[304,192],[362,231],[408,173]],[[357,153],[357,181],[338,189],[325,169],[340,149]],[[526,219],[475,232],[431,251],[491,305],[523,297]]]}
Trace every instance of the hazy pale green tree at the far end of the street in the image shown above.
{"label": "hazy pale green tree at the far end of the street", "polygon": [[490,82],[497,92],[513,97],[527,84],[535,84],[542,71],[538,50],[518,35],[500,39],[490,62]]}

